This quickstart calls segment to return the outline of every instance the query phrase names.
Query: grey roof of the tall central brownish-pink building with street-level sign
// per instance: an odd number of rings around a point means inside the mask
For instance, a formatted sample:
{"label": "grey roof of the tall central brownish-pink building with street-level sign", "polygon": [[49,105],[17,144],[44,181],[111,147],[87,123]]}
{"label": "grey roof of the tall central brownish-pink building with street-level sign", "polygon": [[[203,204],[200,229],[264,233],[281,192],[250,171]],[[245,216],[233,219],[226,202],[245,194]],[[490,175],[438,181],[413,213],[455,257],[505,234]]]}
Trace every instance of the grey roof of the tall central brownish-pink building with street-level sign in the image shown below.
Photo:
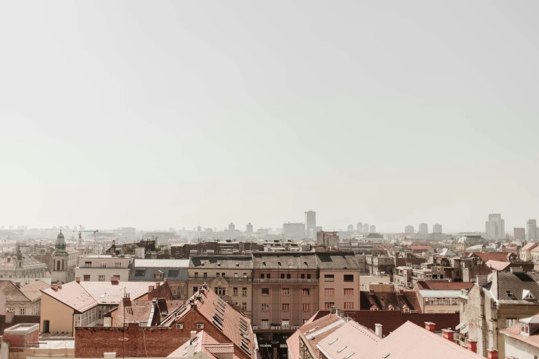
{"label": "grey roof of the tall central brownish-pink building with street-level sign", "polygon": [[314,252],[253,252],[254,269],[317,269]]}

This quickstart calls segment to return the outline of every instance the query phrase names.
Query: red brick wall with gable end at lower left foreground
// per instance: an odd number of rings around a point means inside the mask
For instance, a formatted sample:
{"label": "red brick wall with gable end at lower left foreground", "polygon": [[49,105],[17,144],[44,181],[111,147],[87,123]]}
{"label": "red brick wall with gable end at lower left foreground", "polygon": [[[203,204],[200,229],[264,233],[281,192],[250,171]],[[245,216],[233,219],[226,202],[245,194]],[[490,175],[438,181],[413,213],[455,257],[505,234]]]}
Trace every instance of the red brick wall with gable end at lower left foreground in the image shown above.
{"label": "red brick wall with gable end at lower left foreground", "polygon": [[[166,357],[191,338],[191,330],[197,333],[202,330],[197,329],[198,323],[204,324],[203,330],[218,342],[231,342],[196,309],[190,309],[177,323],[183,324],[183,329],[176,329],[176,325],[171,328],[139,327],[130,323],[125,330],[126,340],[123,340],[121,327],[76,327],[75,357],[102,358],[103,353],[110,351],[115,351],[117,357],[123,353],[131,358]],[[234,353],[241,359],[251,359],[237,346],[234,346]]]}

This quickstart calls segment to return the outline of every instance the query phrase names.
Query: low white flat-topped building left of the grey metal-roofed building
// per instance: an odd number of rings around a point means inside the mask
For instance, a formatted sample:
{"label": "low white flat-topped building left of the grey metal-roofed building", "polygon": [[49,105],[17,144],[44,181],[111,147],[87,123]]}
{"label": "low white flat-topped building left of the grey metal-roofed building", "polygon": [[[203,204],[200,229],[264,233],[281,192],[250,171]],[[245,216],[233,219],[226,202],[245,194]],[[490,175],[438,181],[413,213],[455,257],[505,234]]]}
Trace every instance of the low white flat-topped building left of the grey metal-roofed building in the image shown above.
{"label": "low white flat-topped building left of the grey metal-roofed building", "polygon": [[129,265],[133,263],[133,260],[133,256],[127,255],[89,254],[81,256],[78,257],[75,277],[84,282],[104,282],[115,276],[120,281],[127,282],[129,280]]}

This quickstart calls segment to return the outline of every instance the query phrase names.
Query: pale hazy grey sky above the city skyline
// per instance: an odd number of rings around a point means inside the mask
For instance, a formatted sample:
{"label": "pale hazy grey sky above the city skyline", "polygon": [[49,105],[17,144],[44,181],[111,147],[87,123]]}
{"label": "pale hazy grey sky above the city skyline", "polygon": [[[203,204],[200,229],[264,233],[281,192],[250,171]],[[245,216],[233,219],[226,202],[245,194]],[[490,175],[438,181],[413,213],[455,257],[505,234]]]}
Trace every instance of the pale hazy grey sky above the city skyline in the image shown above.
{"label": "pale hazy grey sky above the city skyline", "polygon": [[538,1],[2,1],[0,225],[539,217]]}

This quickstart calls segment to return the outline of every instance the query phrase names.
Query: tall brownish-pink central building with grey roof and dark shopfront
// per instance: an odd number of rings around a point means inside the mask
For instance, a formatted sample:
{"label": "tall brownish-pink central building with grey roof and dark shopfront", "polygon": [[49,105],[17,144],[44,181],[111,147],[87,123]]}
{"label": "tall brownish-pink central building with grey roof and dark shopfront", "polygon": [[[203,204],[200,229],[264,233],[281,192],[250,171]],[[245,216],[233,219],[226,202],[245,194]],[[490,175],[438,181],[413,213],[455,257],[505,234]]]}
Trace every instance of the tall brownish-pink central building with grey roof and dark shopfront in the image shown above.
{"label": "tall brownish-pink central building with grey roof and dark shopfront", "polygon": [[252,324],[260,347],[286,356],[286,339],[318,311],[318,296],[314,252],[253,252]]}

